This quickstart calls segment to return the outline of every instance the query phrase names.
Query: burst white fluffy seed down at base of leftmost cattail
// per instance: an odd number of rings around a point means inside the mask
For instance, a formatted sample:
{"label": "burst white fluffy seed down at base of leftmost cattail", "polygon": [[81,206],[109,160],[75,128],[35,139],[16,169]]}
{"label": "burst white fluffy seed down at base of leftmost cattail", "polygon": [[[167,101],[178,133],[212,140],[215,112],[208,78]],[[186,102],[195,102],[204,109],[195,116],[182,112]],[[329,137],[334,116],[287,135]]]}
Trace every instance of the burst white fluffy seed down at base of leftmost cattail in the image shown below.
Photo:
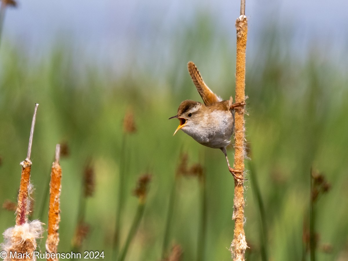
{"label": "burst white fluffy seed down at base of leftmost cattail", "polygon": [[[25,222],[21,225],[8,228],[3,233],[4,243],[1,245],[3,251],[6,251],[7,257],[4,261],[32,261],[33,252],[36,249],[36,240],[41,237],[43,232],[42,223],[39,220]],[[10,253],[12,253],[10,255]],[[21,259],[15,259],[15,253],[22,254]],[[26,255],[26,253],[28,253]]]}

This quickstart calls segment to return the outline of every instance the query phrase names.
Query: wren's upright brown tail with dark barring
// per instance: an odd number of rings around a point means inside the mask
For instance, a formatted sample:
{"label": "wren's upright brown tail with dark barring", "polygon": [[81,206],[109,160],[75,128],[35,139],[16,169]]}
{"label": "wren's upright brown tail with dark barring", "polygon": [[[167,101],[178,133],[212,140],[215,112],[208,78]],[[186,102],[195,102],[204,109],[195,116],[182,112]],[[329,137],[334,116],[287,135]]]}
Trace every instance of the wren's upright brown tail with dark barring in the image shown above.
{"label": "wren's upright brown tail with dark barring", "polygon": [[202,97],[205,105],[208,106],[222,101],[222,99],[215,93],[213,93],[212,90],[209,89],[209,87],[204,83],[196,65],[193,62],[189,62],[187,64],[187,68],[189,70],[192,81],[195,84],[198,93]]}

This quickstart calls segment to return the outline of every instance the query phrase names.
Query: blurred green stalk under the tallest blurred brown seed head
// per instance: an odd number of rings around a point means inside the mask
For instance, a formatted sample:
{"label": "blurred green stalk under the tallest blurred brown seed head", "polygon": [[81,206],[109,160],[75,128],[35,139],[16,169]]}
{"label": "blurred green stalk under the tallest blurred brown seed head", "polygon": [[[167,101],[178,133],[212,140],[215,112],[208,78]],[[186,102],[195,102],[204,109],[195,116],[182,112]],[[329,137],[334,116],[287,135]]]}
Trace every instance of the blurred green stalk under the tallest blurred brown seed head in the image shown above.
{"label": "blurred green stalk under the tallest blurred brown seed head", "polygon": [[115,235],[113,238],[113,255],[116,258],[119,245],[120,245],[120,226],[121,226],[121,213],[124,207],[124,189],[125,189],[125,150],[126,150],[126,137],[127,134],[123,133],[121,141],[121,155],[120,155],[120,169],[119,169],[119,182],[118,182],[118,204],[116,210],[116,222],[115,222]]}

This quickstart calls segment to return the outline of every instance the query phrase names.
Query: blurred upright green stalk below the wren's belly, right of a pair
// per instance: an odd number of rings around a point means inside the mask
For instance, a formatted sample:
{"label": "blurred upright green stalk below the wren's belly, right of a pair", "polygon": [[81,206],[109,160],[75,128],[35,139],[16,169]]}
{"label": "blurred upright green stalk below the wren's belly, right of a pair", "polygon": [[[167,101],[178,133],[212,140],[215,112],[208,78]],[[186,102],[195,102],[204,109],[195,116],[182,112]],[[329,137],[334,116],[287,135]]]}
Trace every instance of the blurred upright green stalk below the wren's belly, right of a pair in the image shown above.
{"label": "blurred upright green stalk below the wren's belly, right of a pair", "polygon": [[205,176],[202,175],[199,179],[200,187],[200,199],[201,199],[201,220],[200,227],[198,229],[198,242],[197,242],[197,261],[204,260],[204,251],[206,243],[206,227],[207,227],[207,193]]}

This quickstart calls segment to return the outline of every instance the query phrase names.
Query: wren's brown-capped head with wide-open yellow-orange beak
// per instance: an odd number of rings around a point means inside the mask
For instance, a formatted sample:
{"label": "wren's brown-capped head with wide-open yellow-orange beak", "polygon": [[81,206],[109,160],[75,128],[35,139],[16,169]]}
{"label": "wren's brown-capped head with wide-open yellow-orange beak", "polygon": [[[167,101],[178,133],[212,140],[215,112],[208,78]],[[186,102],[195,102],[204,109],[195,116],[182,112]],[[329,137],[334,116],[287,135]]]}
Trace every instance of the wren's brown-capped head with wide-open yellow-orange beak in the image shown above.
{"label": "wren's brown-capped head with wide-open yellow-orange beak", "polygon": [[182,103],[180,103],[179,108],[177,109],[177,114],[169,118],[169,120],[177,118],[180,121],[180,124],[176,128],[173,136],[179,129],[188,126],[192,119],[199,117],[198,113],[201,106],[202,104],[200,102],[195,102],[192,100],[185,100]]}

